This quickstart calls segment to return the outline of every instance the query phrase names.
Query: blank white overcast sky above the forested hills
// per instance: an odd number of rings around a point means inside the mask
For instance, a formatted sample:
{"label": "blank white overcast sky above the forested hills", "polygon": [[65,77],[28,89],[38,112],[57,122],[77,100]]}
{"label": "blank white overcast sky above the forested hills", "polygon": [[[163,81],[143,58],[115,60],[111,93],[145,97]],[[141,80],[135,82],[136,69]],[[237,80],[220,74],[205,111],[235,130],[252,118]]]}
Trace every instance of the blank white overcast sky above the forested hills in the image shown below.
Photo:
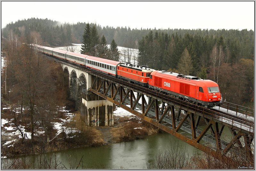
{"label": "blank white overcast sky above the forested hills", "polygon": [[130,28],[252,29],[254,2],[1,2],[1,28],[48,18]]}

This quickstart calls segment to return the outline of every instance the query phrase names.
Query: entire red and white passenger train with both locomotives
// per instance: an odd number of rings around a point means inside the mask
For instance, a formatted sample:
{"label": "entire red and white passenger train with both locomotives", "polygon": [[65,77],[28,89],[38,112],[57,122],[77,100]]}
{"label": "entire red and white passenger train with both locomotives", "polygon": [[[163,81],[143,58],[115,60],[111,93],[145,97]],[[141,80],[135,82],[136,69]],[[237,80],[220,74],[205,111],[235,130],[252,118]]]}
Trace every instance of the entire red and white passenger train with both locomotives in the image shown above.
{"label": "entire red and white passenger train with both locomotives", "polygon": [[147,66],[134,66],[130,63],[121,63],[57,48],[31,45],[46,55],[82,65],[136,85],[148,87],[193,104],[207,108],[220,105],[219,85],[211,80],[169,71],[156,71]]}

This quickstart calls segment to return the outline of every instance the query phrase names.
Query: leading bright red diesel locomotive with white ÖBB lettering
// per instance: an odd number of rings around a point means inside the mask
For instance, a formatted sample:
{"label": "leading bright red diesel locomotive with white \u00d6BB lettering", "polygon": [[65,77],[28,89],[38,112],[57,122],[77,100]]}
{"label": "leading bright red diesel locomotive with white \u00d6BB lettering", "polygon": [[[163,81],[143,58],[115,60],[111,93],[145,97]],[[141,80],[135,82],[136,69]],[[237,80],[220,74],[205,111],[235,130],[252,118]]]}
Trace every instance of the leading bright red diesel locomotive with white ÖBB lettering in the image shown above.
{"label": "leading bright red diesel locomotive with white \u00d6BB lettering", "polygon": [[149,88],[205,107],[220,105],[219,85],[211,80],[168,71],[153,71]]}

